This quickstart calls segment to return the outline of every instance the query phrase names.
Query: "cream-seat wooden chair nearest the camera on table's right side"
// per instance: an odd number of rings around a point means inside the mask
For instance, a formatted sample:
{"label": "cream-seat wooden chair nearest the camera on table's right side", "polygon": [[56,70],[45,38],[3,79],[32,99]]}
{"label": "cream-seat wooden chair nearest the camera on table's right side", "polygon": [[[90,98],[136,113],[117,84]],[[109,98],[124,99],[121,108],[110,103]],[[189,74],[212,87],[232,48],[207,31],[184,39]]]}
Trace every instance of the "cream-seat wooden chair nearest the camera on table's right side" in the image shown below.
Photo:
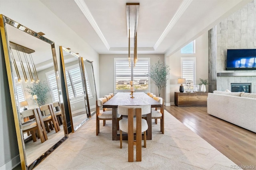
{"label": "cream-seat wooden chair nearest the camera on table's right side", "polygon": [[[156,102],[161,104],[161,107],[156,107],[155,109],[152,109],[151,111],[151,117],[152,119],[155,119],[155,123],[157,124],[157,119],[160,119],[160,131],[162,134],[164,134],[164,99],[160,97],[154,97],[154,100]],[[160,109],[160,110],[159,110]],[[144,119],[146,119],[146,115],[142,115]]]}

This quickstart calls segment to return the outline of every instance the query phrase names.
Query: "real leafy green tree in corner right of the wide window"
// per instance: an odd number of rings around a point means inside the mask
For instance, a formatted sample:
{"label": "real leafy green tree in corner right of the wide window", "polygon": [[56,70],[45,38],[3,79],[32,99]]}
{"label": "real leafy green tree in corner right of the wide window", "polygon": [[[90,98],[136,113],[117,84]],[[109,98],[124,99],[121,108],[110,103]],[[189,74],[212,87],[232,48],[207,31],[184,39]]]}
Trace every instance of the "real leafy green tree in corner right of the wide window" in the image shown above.
{"label": "real leafy green tree in corner right of the wide window", "polygon": [[158,62],[151,66],[150,71],[147,73],[147,76],[154,80],[155,85],[158,87],[158,94],[160,96],[161,89],[166,87],[166,82],[168,78],[166,77],[170,74],[170,68],[168,65],[164,66],[164,62]]}

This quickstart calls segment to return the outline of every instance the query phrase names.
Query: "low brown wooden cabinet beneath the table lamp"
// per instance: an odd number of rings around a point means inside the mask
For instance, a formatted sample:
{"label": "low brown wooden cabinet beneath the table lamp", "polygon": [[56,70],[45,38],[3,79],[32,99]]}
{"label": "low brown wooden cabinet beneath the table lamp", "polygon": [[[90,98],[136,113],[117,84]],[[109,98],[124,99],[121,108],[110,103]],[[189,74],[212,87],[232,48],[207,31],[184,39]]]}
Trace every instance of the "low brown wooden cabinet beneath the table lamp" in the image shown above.
{"label": "low brown wooden cabinet beneath the table lamp", "polygon": [[176,106],[207,106],[208,92],[174,93]]}

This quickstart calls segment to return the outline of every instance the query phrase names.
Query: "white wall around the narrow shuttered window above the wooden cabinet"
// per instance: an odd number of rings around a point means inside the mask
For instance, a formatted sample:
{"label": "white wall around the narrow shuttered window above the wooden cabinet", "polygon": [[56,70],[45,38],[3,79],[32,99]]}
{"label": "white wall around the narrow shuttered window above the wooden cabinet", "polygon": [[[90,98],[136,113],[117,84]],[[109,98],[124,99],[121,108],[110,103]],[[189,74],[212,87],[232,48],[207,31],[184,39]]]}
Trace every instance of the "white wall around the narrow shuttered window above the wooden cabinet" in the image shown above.
{"label": "white wall around the narrow shuttered window above the wooden cabinet", "polygon": [[[170,95],[171,105],[174,104],[174,92],[179,92],[180,90],[180,84],[177,84],[178,78],[181,77],[180,57],[196,57],[196,84],[199,83],[199,78],[208,78],[208,32],[196,39],[195,54],[181,54],[179,50],[170,57],[167,57],[171,70],[170,94],[166,93],[166,96]],[[206,90],[208,91],[208,85],[206,86]]]}

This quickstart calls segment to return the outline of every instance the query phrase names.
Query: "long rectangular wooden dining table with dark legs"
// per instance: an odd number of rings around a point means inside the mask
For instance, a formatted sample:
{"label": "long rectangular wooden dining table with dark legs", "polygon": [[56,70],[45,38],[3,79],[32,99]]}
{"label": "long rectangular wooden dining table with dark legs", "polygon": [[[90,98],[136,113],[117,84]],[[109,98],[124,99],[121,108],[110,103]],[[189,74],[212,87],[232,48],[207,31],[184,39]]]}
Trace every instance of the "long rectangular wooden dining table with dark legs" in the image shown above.
{"label": "long rectangular wooden dining table with dark legs", "polygon": [[[134,98],[131,98],[131,97]],[[110,100],[103,104],[103,108],[112,108],[112,140],[120,140],[120,135],[118,134],[118,106],[140,106],[140,105],[151,105],[151,107],[161,107],[161,104],[156,100],[148,96],[144,92],[118,92]],[[152,117],[151,113],[147,114],[148,130],[147,130],[147,140],[152,139]]]}

